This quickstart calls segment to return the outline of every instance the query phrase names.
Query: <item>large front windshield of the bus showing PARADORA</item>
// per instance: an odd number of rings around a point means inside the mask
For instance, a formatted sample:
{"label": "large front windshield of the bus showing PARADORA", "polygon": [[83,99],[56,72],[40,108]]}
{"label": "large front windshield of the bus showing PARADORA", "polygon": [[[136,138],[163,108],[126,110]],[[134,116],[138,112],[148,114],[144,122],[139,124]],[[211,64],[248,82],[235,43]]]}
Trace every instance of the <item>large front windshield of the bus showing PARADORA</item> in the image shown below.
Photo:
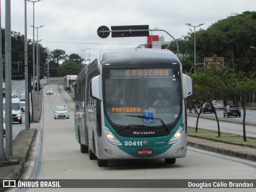
{"label": "large front windshield of the bus showing PARADORA", "polygon": [[[179,68],[104,68],[104,113],[115,126],[172,124],[181,114]],[[147,116],[152,118],[136,118]]]}

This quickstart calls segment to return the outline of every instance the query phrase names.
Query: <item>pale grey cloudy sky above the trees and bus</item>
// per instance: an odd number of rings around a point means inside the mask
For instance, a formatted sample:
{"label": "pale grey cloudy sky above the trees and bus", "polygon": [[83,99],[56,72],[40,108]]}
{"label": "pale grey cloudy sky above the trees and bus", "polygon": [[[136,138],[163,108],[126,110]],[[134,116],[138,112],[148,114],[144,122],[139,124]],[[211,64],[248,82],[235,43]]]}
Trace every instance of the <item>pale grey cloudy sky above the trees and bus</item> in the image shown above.
{"label": "pale grey cloudy sky above the trees and bus", "polygon": [[[149,25],[166,30],[174,38],[187,35],[191,23],[207,29],[211,24],[244,11],[255,11],[256,0],[41,0],[34,3],[35,27],[44,47],[93,58],[102,49],[134,48],[146,44],[145,37],[108,38],[97,35],[99,26]],[[33,3],[27,2],[28,38],[33,39]],[[5,27],[5,0],[1,0]],[[24,0],[11,0],[11,29],[24,34]],[[196,28],[198,30],[199,28]],[[151,34],[151,32],[150,32]],[[36,36],[35,29],[35,39]],[[172,40],[165,32],[153,32]],[[86,51],[81,51],[86,50]]]}

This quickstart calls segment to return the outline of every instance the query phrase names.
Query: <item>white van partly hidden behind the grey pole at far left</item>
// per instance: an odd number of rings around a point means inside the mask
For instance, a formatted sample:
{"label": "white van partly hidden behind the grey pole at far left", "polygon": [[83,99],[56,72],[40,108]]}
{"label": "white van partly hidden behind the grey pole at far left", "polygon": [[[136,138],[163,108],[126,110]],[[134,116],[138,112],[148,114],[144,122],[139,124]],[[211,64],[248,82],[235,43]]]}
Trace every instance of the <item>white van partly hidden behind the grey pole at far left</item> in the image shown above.
{"label": "white van partly hidden behind the grey pole at far left", "polygon": [[[4,117],[5,117],[5,99],[3,100],[3,110],[4,110]],[[22,124],[22,110],[23,108],[20,106],[20,99],[19,98],[12,98],[12,121],[19,122]]]}

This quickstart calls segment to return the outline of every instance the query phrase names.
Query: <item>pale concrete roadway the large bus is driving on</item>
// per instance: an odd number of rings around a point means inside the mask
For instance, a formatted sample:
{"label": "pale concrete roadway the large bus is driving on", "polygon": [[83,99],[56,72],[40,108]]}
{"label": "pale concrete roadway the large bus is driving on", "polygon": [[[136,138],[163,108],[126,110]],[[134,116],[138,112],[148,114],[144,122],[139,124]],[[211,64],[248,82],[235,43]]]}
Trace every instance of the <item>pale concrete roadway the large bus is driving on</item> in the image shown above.
{"label": "pale concrete roadway the large bus is driving on", "polygon": [[[176,164],[165,164],[158,160],[111,160],[108,167],[99,168],[96,160],[89,160],[88,154],[80,152],[74,134],[74,102],[64,91],[63,85],[46,85],[53,88],[54,95],[43,96],[42,120],[38,135],[32,147],[30,158],[21,179],[252,179],[256,174],[256,163],[238,158],[188,148],[186,158]],[[58,105],[70,109],[70,119],[54,120],[53,111]],[[112,185],[115,187],[115,183]],[[176,188],[175,191],[197,192],[193,188]],[[48,189],[10,189],[17,191],[46,191]],[[81,191],[81,188],[52,189],[54,191]],[[90,188],[83,191],[104,192],[155,192],[174,191],[172,188]],[[209,189],[208,191],[220,191]],[[254,191],[248,188],[230,188],[223,191]]]}

